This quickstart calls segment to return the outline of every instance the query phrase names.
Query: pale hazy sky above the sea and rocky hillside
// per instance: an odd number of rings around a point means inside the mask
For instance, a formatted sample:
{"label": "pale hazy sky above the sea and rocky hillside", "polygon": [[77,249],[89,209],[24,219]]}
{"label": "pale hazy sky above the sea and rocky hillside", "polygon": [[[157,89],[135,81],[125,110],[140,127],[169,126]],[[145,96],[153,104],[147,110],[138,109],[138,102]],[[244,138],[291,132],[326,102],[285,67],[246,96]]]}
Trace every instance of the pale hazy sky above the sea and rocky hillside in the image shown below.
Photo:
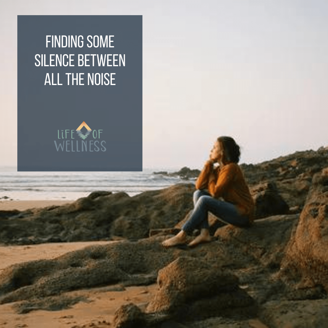
{"label": "pale hazy sky above the sea and rocky hillside", "polygon": [[143,16],[143,167],[201,168],[328,145],[328,2],[0,2],[0,166],[17,163],[17,15]]}

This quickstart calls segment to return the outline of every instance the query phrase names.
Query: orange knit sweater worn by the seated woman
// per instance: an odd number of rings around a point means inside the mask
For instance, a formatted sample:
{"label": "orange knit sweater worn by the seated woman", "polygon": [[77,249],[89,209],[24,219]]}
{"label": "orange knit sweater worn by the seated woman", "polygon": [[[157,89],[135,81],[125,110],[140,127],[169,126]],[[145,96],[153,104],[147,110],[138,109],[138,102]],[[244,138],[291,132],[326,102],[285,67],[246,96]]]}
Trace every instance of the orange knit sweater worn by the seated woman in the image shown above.
{"label": "orange knit sweater worn by the seated woman", "polygon": [[[209,182],[211,172],[215,174],[215,180]],[[214,198],[222,197],[234,204],[241,215],[247,215],[253,221],[254,201],[238,164],[229,163],[213,170],[213,164],[207,162],[195,185],[196,189],[208,189]]]}

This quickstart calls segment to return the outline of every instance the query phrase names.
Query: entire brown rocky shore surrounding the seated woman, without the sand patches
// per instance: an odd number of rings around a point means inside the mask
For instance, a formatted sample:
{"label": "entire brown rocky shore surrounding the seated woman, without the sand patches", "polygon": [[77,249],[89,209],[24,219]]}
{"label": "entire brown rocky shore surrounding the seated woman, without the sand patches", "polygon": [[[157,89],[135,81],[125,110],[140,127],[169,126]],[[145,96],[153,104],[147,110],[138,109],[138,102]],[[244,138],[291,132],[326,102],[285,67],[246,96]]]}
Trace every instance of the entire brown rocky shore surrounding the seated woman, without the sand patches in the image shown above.
{"label": "entire brown rocky shore surrounding the seated woman, without the sand patches", "polygon": [[194,249],[161,245],[187,219],[193,183],[0,212],[3,244],[115,241],[5,268],[0,304],[17,313],[58,310],[84,301],[71,291],[156,283],[149,302],[123,305],[108,326],[325,327],[328,149],[241,167],[256,202],[254,225],[222,226],[210,215],[213,241]]}

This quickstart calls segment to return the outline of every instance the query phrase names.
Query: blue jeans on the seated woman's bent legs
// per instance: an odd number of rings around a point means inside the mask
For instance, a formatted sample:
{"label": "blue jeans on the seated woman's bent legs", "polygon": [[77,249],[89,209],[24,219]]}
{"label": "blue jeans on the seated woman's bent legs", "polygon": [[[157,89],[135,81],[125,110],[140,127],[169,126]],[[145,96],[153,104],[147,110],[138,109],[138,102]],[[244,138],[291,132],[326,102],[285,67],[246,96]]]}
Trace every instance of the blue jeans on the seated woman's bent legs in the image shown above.
{"label": "blue jeans on the seated woman's bent legs", "polygon": [[192,234],[194,229],[209,229],[208,212],[220,218],[224,223],[230,223],[237,227],[250,225],[248,216],[241,215],[234,204],[213,198],[205,190],[196,190],[193,200],[194,210],[188,221],[182,226],[182,230],[188,235]]}

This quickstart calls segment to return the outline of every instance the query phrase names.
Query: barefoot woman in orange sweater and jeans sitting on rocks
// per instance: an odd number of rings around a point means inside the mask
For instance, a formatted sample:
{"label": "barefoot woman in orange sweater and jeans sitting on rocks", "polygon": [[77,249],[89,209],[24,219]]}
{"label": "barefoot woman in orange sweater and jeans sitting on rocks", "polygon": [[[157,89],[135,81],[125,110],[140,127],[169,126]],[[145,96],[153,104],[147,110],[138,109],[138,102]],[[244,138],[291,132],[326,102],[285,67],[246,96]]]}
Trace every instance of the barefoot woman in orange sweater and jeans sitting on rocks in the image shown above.
{"label": "barefoot woman in orange sweater and jeans sitting on rocks", "polygon": [[[239,165],[239,146],[231,137],[218,137],[210,153],[210,159],[199,174],[194,193],[194,210],[181,231],[163,241],[165,247],[184,244],[187,235],[200,229],[188,246],[211,241],[208,212],[226,223],[248,227],[253,222],[254,201]],[[214,163],[219,165],[214,168]],[[222,197],[224,200],[218,198]]]}

